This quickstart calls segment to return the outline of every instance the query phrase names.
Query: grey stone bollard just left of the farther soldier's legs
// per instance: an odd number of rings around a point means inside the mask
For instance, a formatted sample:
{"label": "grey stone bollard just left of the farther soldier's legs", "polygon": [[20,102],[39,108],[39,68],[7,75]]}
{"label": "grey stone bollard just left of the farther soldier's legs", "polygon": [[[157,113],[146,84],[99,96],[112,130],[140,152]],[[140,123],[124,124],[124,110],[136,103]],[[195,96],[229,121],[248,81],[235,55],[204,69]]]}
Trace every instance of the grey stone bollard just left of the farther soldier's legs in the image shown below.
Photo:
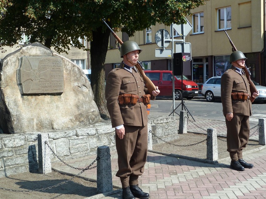
{"label": "grey stone bollard just left of the farther soldier's legs", "polygon": [[207,129],[207,159],[218,160],[217,131]]}

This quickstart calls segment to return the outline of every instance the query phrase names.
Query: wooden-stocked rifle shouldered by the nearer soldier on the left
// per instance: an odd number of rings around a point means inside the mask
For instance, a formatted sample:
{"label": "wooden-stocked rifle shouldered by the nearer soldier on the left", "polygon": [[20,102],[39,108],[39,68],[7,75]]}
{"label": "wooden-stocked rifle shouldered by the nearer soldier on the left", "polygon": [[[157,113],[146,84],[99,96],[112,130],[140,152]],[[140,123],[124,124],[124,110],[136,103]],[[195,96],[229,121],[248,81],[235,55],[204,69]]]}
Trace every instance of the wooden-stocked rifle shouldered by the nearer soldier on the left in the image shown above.
{"label": "wooden-stocked rifle shouldered by the nearer soldier on the left", "polygon": [[[116,40],[118,41],[118,43],[120,45],[122,45],[123,44],[123,41],[116,35],[116,33],[110,28],[110,26],[108,26],[108,24],[104,21],[104,19],[102,19],[102,21],[109,28],[109,30],[111,31],[112,35],[116,38]],[[143,80],[145,81],[145,84],[146,84],[146,87],[148,88],[148,91],[150,93],[150,96],[153,96],[152,95],[152,91],[155,91],[156,90],[155,85],[146,76],[146,74],[144,73],[144,67],[142,66],[142,64],[139,61],[137,61],[137,64],[135,66],[138,69],[138,71],[140,72],[140,75],[142,76]]]}

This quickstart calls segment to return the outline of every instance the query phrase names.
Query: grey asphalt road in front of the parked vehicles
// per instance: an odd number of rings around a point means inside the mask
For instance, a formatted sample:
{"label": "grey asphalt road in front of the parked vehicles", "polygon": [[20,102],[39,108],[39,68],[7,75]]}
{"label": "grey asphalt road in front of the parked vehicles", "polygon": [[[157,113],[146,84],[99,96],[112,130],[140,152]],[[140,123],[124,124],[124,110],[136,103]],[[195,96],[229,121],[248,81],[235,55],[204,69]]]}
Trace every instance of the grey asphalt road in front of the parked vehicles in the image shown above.
{"label": "grey asphalt road in front of the parked vehicles", "polygon": [[[209,120],[224,120],[222,102],[215,100],[207,102],[205,98],[198,97],[192,100],[183,100],[183,111],[185,108],[189,111],[188,115],[193,118],[209,119]],[[172,99],[156,99],[151,101],[150,115],[167,115],[173,116],[173,100]],[[178,107],[179,106],[179,107]],[[177,108],[176,108],[177,107]],[[175,116],[180,114],[182,110],[181,100],[175,100]],[[176,114],[177,113],[177,114]],[[258,122],[259,118],[266,118],[266,103],[252,104],[252,116],[250,122]]]}

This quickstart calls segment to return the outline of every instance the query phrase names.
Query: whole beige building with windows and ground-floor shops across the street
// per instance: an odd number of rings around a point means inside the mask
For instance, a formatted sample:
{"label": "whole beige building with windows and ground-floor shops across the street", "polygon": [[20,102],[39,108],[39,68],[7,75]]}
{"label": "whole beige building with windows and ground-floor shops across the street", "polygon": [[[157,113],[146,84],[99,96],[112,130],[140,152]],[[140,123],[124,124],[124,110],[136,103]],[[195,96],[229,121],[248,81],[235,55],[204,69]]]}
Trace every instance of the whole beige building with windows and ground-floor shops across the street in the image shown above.
{"label": "whole beige building with windows and ground-floor shops across the street", "polygon": [[[229,56],[232,46],[225,31],[237,50],[248,58],[246,65],[251,72],[251,78],[265,86],[265,0],[211,0],[205,5],[191,10],[192,15],[187,20],[192,26],[185,36],[185,42],[191,44],[191,75],[188,78],[199,86],[208,78],[221,76],[230,67]],[[117,35],[125,40],[136,41],[143,51],[139,60],[150,70],[172,70],[172,57],[155,57],[155,49],[160,49],[155,43],[155,34],[165,29],[171,35],[171,27],[156,24],[143,31],[135,32],[131,38],[125,33]],[[225,30],[225,31],[224,31]],[[174,30],[174,39],[182,39]],[[180,42],[174,42],[174,53],[180,51]],[[115,47],[114,38],[110,36],[109,50],[106,55],[106,75],[120,64],[119,50]],[[172,49],[172,44],[166,47]],[[175,65],[174,65],[175,67]]]}

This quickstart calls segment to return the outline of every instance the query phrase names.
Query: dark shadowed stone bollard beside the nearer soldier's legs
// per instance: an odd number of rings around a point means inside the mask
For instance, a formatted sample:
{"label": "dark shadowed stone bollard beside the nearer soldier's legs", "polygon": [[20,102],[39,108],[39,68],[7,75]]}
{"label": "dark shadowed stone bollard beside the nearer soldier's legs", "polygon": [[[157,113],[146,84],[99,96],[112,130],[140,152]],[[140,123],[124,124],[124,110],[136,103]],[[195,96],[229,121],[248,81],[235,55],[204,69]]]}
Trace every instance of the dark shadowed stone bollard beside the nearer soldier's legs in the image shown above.
{"label": "dark shadowed stone bollard beside the nearer soldier's legs", "polygon": [[113,190],[111,155],[109,146],[97,148],[97,192],[105,193]]}

